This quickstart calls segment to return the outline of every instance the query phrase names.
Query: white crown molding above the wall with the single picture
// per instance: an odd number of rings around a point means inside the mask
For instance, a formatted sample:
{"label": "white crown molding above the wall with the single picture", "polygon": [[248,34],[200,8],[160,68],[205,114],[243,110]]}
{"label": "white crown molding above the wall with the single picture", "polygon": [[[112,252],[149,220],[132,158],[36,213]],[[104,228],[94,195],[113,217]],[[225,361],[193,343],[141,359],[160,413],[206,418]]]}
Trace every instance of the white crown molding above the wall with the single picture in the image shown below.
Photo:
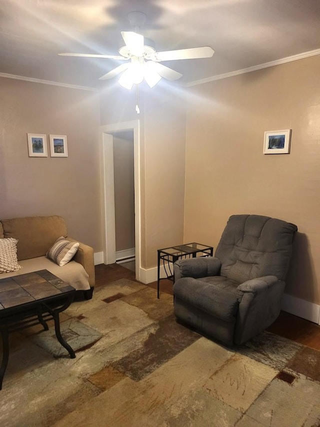
{"label": "white crown molding above the wall with the single picture", "polygon": [[291,57],[281,58],[275,61],[265,62],[264,64],[255,65],[253,67],[243,68],[242,70],[231,71],[230,73],[218,74],[216,76],[207,77],[201,80],[194,80],[186,84],[186,87],[202,85],[203,83],[213,82],[215,80],[227,79],[228,77],[238,76],[239,74],[250,73],[251,71],[262,70],[263,68],[274,67],[275,65],[285,64],[287,62],[297,61],[300,59],[320,55],[320,49],[314,51],[303,52],[302,54],[293,55]]}

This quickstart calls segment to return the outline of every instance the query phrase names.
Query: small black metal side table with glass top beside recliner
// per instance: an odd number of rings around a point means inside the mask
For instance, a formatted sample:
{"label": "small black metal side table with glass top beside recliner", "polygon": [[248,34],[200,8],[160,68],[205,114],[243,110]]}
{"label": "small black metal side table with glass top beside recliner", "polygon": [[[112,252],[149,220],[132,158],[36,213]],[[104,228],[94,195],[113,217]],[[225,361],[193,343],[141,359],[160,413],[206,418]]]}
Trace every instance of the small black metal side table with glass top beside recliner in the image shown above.
{"label": "small black metal side table with glass top beside recliner", "polygon": [[[158,249],[158,276],[157,276],[157,298],[159,298],[159,284],[161,279],[169,279],[174,282],[173,263],[181,258],[195,258],[197,256],[213,256],[213,247],[200,243],[186,243],[183,245],[170,246]],[[162,265],[166,277],[160,278],[160,264]]]}

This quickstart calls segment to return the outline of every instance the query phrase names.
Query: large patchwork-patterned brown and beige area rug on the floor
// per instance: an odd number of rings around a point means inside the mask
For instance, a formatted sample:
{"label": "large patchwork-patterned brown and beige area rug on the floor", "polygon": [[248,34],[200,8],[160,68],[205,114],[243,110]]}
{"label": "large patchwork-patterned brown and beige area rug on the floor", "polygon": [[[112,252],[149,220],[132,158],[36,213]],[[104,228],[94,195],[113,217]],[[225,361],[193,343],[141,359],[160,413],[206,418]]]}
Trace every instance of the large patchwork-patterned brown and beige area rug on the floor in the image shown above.
{"label": "large patchwork-patterned brown and beige area rug on the floor", "polygon": [[320,425],[320,352],[263,332],[227,348],[178,324],[172,296],[121,279],[73,303],[62,336],[10,336],[0,425]]}

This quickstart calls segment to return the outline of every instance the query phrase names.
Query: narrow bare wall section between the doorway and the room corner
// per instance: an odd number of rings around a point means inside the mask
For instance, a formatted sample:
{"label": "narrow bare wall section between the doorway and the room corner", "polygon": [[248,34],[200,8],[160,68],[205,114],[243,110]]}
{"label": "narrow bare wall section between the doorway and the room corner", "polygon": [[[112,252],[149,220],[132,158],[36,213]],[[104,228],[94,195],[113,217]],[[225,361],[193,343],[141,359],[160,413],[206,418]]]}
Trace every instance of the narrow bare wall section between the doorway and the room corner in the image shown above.
{"label": "narrow bare wall section between the doorway and the room corner", "polygon": [[144,112],[146,267],[151,268],[157,249],[183,241],[185,92],[158,84],[145,94]]}

